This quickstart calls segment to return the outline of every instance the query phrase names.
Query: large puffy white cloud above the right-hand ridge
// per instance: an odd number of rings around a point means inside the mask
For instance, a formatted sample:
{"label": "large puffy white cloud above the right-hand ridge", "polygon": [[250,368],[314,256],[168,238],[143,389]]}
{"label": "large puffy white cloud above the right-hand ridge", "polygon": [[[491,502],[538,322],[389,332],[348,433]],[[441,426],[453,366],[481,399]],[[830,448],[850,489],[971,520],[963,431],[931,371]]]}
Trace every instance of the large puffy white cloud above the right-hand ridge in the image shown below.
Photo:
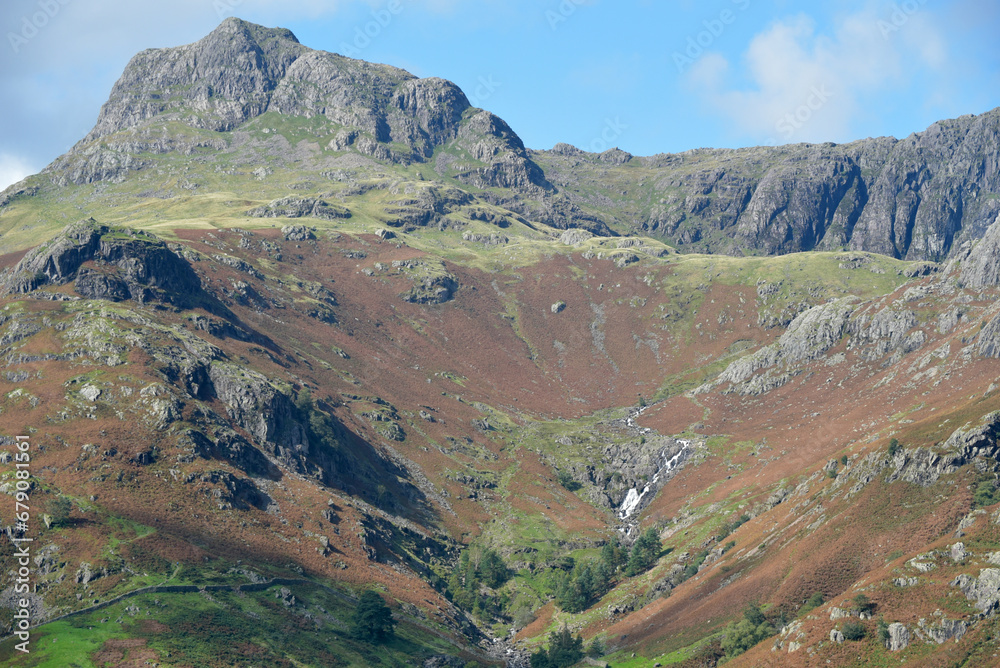
{"label": "large puffy white cloud above the right-hand ridge", "polygon": [[[882,19],[870,10],[851,14],[828,35],[805,15],[777,21],[751,40],[740,68],[710,53],[685,83],[759,141],[845,141],[871,98],[948,63],[945,40],[929,17],[908,16],[888,35],[880,30]],[[747,84],[727,85],[736,75]]]}

